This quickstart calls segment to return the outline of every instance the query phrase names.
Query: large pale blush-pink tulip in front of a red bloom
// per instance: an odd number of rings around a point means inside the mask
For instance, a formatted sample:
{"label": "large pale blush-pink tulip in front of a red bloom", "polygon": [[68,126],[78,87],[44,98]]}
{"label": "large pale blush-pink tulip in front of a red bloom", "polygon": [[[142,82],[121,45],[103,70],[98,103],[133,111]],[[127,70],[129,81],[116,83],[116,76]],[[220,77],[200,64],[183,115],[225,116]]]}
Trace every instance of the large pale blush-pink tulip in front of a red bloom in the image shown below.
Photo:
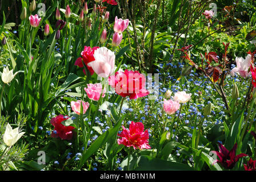
{"label": "large pale blush-pink tulip in front of a red bloom", "polygon": [[114,71],[115,54],[106,47],[94,51],[95,61],[88,63],[89,67],[100,77],[109,77]]}

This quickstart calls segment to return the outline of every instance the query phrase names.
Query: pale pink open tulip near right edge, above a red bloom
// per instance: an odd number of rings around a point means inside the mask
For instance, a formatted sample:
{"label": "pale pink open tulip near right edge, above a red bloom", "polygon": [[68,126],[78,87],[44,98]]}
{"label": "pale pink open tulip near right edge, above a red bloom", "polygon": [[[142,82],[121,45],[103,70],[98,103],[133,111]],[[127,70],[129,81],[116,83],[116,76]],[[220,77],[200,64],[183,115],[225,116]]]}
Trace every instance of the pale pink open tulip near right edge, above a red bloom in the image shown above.
{"label": "pale pink open tulip near right edge, above a red bloom", "polygon": [[238,73],[238,75],[242,76],[243,78],[249,76],[250,72],[248,72],[248,70],[251,65],[251,55],[247,55],[246,59],[243,59],[243,57],[236,57],[235,61],[237,62],[237,67],[231,70],[231,76],[234,76],[234,73]]}

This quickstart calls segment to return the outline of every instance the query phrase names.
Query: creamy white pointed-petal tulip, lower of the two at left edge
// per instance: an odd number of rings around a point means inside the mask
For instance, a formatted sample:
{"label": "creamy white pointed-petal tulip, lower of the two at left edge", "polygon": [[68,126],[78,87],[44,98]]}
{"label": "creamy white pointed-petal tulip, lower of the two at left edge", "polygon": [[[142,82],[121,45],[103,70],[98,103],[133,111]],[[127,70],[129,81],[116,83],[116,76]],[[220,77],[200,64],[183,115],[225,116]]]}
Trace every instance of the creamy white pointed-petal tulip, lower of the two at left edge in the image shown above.
{"label": "creamy white pointed-petal tulip, lower of the two at left edge", "polygon": [[9,147],[13,146],[23,134],[25,134],[25,132],[19,133],[18,127],[13,130],[9,123],[7,123],[5,134],[3,134],[3,142]]}

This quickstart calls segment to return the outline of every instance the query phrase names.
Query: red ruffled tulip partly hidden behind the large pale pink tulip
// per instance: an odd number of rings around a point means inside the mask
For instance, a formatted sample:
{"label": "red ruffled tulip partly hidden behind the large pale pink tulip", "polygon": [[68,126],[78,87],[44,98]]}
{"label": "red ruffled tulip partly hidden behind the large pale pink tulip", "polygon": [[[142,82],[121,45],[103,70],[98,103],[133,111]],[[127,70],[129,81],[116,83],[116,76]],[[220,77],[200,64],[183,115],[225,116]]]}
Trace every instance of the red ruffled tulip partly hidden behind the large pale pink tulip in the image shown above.
{"label": "red ruffled tulip partly hidden behind the large pale pink tulip", "polygon": [[[94,51],[97,50],[99,47],[87,47],[85,46],[85,48],[83,49],[83,51],[81,52],[82,57],[78,57],[78,59],[75,61],[75,65],[77,65],[78,67],[82,68],[83,67],[83,63],[85,63],[86,67],[89,69],[91,75],[93,75],[94,71],[93,68],[89,67],[87,64],[90,63],[91,61],[94,61]],[[82,63],[83,60],[83,63]],[[85,73],[85,69],[83,69],[83,73]]]}

